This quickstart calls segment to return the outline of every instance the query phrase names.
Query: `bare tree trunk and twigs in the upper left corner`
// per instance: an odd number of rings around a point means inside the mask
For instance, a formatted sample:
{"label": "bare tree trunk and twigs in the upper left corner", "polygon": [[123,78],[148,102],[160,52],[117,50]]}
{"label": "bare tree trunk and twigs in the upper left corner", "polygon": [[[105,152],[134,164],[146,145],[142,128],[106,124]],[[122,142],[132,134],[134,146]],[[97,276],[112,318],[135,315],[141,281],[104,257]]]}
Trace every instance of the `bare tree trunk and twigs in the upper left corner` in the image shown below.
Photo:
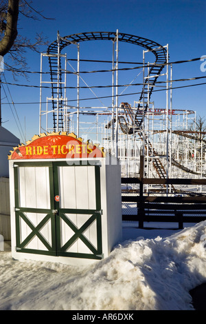
{"label": "bare tree trunk and twigs in the upper left corner", "polygon": [[[17,34],[17,22],[19,14],[34,21],[43,19],[52,19],[45,17],[40,11],[32,7],[32,1],[29,0],[1,0],[0,8],[0,55],[6,56],[4,60],[6,68],[14,75],[26,75],[27,60],[26,51],[41,52],[43,45],[49,45],[47,38],[43,34],[36,34],[33,41],[27,37]],[[18,28],[19,30],[19,28]]]}

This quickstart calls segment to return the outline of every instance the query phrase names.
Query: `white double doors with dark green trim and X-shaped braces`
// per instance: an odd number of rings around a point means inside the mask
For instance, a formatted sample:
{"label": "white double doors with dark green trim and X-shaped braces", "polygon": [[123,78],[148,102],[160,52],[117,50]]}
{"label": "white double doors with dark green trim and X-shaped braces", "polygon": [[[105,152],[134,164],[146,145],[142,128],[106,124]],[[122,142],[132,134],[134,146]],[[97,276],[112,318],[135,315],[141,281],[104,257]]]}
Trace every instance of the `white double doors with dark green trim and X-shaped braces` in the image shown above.
{"label": "white double doors with dark green trim and X-shaped braces", "polygon": [[16,252],[102,259],[100,165],[15,162]]}

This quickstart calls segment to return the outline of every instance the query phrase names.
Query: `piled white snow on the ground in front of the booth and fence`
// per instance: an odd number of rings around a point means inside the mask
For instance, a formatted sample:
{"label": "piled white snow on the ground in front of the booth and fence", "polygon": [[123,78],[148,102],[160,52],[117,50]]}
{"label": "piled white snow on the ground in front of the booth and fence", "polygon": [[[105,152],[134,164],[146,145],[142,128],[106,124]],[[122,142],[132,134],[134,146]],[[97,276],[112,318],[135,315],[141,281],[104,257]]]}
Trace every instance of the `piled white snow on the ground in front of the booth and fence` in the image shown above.
{"label": "piled white snow on the ground in front of the booth and fence", "polygon": [[183,230],[124,223],[122,243],[76,267],[16,261],[0,251],[0,310],[194,310],[189,291],[206,281],[206,221]]}

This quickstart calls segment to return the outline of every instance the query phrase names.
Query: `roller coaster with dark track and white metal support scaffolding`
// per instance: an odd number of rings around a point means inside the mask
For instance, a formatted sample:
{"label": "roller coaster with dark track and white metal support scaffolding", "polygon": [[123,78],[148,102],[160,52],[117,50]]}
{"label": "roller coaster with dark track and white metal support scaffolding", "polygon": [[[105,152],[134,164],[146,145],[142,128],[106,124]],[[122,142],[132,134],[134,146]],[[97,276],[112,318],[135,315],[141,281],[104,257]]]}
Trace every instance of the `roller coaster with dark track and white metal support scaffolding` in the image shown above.
{"label": "roller coaster with dark track and white metal support scaffolding", "polygon": [[[112,69],[108,70],[112,74],[112,104],[109,107],[80,106],[80,79],[81,75],[86,73],[80,72],[80,43],[86,41],[113,43]],[[133,69],[119,68],[119,42],[144,48],[141,63],[142,89],[136,94],[139,98],[133,105],[128,102],[119,103],[119,70]],[[67,70],[69,60],[67,54],[62,54],[63,50],[71,45],[75,45],[78,50],[77,70],[74,72]],[[147,53],[155,56],[153,63],[146,63]],[[45,59],[47,72],[44,69]],[[76,105],[69,105],[67,99],[67,89],[72,88],[68,85],[67,77],[71,74],[77,78],[77,86],[73,87],[76,88]],[[159,78],[164,81],[159,82]],[[169,62],[168,45],[162,46],[150,39],[118,30],[83,32],[65,37],[60,37],[58,33],[56,41],[49,45],[47,52],[41,53],[40,82],[40,133],[75,132],[78,137],[88,134],[89,130],[85,131],[81,125],[85,125],[83,117],[89,116],[93,118],[87,123],[91,123],[92,129],[95,129],[94,141],[101,143],[106,151],[115,154],[121,160],[122,176],[137,176],[140,154],[145,156],[145,172],[148,177],[172,178],[182,174],[201,178],[206,176],[203,164],[205,141],[203,134],[198,136],[199,132],[195,128],[196,112],[172,108],[172,64]],[[89,85],[87,86],[89,88]],[[155,108],[154,102],[151,101],[152,92],[157,87],[163,87],[165,90],[163,109]]]}

